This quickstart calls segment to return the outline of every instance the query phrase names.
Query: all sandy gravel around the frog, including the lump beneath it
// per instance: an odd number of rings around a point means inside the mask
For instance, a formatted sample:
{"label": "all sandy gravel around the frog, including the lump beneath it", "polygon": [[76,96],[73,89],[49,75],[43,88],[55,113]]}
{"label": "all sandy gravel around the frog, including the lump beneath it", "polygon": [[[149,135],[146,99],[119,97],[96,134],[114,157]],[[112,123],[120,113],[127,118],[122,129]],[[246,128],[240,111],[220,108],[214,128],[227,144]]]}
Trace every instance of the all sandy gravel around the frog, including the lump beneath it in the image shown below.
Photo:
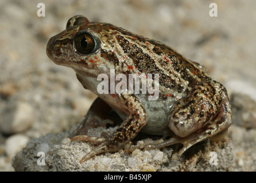
{"label": "all sandy gravel around the frog, including the lump beneath it", "polygon": [[[216,1],[218,17],[209,16],[208,1],[46,0],[45,17],[37,17],[37,3],[0,2],[0,171],[256,171],[255,1]],[[233,124],[227,137],[200,142],[181,157],[181,146],[174,145],[122,149],[80,164],[95,146],[67,137],[95,95],[45,53],[49,38],[76,14],[162,41],[204,65],[229,92]],[[215,156],[218,165],[211,165]]]}

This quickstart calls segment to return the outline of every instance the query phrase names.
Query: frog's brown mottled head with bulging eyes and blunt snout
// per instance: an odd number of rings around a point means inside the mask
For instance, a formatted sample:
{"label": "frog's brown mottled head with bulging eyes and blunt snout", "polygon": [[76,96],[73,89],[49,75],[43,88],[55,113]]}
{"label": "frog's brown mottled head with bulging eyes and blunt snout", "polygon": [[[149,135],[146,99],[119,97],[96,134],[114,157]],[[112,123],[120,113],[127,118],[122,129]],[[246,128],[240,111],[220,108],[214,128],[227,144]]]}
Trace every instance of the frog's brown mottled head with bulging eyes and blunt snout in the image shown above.
{"label": "frog's brown mottled head with bulging eyes and blunt snout", "polygon": [[107,74],[122,65],[122,48],[116,44],[121,32],[129,33],[109,23],[89,22],[76,15],[68,20],[63,32],[49,40],[46,53],[56,64],[71,67],[76,73]]}

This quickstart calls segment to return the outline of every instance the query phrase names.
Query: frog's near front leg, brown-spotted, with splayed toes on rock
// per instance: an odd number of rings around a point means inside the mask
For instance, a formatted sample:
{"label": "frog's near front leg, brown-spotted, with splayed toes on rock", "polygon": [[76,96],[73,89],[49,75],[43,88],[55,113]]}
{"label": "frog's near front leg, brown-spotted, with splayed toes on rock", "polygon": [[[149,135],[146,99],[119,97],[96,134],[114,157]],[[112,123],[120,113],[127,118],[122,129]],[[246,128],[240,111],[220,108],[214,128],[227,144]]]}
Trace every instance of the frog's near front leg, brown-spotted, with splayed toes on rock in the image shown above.
{"label": "frog's near front leg, brown-spotted, with splayed toes on rock", "polygon": [[75,136],[73,139],[79,141],[91,141],[99,144],[91,152],[80,160],[81,163],[87,161],[96,154],[115,152],[125,146],[128,142],[139,133],[139,131],[146,125],[148,121],[148,114],[143,108],[142,104],[137,100],[133,94],[121,94],[119,99],[122,104],[126,106],[129,116],[122,122],[121,126],[107,138],[95,138],[90,136]]}

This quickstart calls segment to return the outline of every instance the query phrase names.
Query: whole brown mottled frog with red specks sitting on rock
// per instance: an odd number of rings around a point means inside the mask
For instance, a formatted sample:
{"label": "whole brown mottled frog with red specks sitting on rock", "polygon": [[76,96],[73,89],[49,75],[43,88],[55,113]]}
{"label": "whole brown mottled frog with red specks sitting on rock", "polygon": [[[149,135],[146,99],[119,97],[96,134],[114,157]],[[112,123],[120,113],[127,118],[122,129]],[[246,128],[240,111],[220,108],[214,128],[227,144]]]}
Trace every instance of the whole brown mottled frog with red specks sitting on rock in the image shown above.
{"label": "whole brown mottled frog with red specks sitting on rock", "polygon": [[[165,43],[111,23],[90,22],[83,15],[75,15],[64,31],[49,39],[46,54],[57,65],[71,67],[84,89],[98,96],[70,136],[71,141],[90,141],[96,145],[81,163],[97,154],[118,152],[140,132],[164,139],[150,141],[145,150],[182,144],[182,156],[198,142],[208,138],[222,140],[231,125],[226,87],[212,79],[200,63]],[[110,80],[111,70],[115,76],[158,76],[158,82],[152,82],[152,86],[158,86],[156,100],[150,100],[149,92],[133,92],[134,87],[130,92],[110,93],[108,88],[106,93],[99,93],[102,79],[98,76],[103,73]],[[139,81],[140,86],[142,82]],[[87,135],[88,129],[111,123],[111,118],[121,121],[113,134]]]}

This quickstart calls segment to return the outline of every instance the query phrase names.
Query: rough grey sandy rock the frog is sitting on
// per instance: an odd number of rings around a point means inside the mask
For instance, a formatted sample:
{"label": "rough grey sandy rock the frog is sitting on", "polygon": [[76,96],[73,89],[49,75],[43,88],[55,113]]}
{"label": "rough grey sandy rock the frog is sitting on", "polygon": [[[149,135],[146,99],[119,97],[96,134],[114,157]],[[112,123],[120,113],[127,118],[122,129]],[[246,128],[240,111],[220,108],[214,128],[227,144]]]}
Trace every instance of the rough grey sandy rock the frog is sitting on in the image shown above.
{"label": "rough grey sandy rock the frog is sitting on", "polygon": [[[99,128],[102,130],[102,128]],[[110,128],[109,128],[110,129]],[[107,129],[107,130],[109,130]],[[114,129],[114,128],[113,128]],[[95,129],[94,129],[95,130]],[[106,130],[106,129],[105,129]],[[95,148],[91,142],[71,142],[71,132],[47,134],[34,138],[20,153],[13,158],[15,170],[22,171],[228,171],[232,170],[234,152],[230,138],[220,142],[206,140],[188,149],[182,156],[177,153],[181,145],[168,148],[139,150],[126,153],[124,149],[115,153],[94,156],[80,164],[81,158]],[[35,154],[39,147],[47,144],[45,165],[38,166]],[[140,146],[141,141],[137,142]],[[45,145],[44,145],[45,146]],[[211,165],[210,153],[216,154],[217,165]]]}

